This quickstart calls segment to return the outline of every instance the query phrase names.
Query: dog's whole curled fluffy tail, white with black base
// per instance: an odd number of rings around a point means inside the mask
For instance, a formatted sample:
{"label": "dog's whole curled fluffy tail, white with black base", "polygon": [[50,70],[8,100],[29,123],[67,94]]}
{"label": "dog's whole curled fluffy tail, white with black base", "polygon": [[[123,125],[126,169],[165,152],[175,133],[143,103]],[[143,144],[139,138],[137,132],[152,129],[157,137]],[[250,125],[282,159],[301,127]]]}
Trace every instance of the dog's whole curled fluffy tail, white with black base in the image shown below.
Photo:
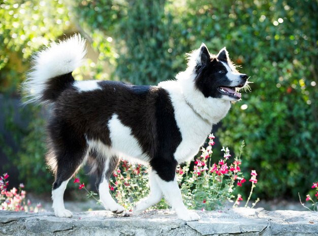
{"label": "dog's whole curled fluffy tail, white with black base", "polygon": [[79,34],[71,38],[51,43],[49,47],[36,53],[33,66],[22,83],[25,103],[50,103],[72,85],[72,72],[78,68],[86,54],[85,40]]}

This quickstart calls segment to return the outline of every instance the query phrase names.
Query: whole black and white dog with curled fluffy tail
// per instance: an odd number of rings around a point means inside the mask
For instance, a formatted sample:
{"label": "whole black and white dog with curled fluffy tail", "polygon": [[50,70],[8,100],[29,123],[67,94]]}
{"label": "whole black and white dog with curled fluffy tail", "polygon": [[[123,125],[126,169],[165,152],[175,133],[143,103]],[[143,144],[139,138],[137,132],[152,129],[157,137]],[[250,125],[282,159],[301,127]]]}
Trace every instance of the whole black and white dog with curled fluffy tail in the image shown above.
{"label": "whole black and white dog with curled fluffy tail", "polygon": [[28,102],[51,104],[47,162],[55,174],[55,215],[71,217],[63,193],[86,161],[93,163],[97,188],[106,210],[124,211],[109,193],[108,181],[119,158],[149,165],[150,195],[134,209],[139,214],[164,196],[180,219],[199,220],[183,204],[176,181],[178,163],[192,159],[213,124],[226,116],[236,90],[247,83],[225,48],[217,55],[201,47],[188,54],[188,65],[176,80],[157,86],[115,81],[75,81],[72,72],[85,56],[85,41],[75,35],[52,43],[34,56],[22,88]]}

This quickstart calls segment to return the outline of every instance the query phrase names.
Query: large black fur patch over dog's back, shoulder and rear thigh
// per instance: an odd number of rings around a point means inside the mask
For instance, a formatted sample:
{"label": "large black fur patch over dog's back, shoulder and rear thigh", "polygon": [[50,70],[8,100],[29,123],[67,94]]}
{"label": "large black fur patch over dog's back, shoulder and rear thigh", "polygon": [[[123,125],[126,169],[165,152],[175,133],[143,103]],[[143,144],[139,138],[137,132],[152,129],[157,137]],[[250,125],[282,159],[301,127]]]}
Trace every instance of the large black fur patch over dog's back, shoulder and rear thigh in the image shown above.
{"label": "large black fur patch over dog's back, shoulder and rear thigh", "polygon": [[[53,158],[57,163],[53,188],[70,178],[82,163],[88,148],[86,139],[112,145],[108,121],[113,114],[131,128],[142,151],[150,157],[153,170],[163,180],[173,180],[177,165],[173,154],[182,139],[168,92],[160,87],[114,81],[98,84],[102,89],[93,91],[69,87],[62,90],[55,100],[48,125],[51,149],[55,154]],[[99,165],[105,163],[94,151],[90,158],[99,161]],[[113,158],[115,161],[111,161],[108,169],[111,173],[118,163],[118,158]],[[111,173],[104,173],[104,166],[99,166],[97,184],[103,178],[109,178]]]}

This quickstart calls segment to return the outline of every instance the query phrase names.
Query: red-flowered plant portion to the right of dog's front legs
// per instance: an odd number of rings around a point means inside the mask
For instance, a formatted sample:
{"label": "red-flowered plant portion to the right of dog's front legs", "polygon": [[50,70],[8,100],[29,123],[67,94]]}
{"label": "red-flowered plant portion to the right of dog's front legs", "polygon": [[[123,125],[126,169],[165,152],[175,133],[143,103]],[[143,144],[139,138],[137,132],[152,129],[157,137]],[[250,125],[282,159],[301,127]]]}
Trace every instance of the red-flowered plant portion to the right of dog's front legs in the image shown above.
{"label": "red-flowered plant portion to the right of dog's front legs", "polygon": [[[244,141],[238,157],[231,160],[230,150],[222,147],[223,158],[212,164],[212,146],[215,144],[213,141],[215,137],[213,134],[209,134],[208,139],[207,148],[201,149],[202,154],[194,162],[194,170],[189,171],[189,165],[186,165],[183,168],[179,167],[177,171],[184,201],[189,209],[222,208],[227,201],[232,201],[232,198],[235,197],[235,189],[242,187],[242,184],[246,182],[240,168]],[[252,173],[256,174],[255,171]],[[256,176],[252,175],[250,181],[253,189],[257,183]],[[251,194],[252,190],[250,196]],[[242,195],[238,194],[233,207],[237,207],[241,200],[243,200]],[[247,204],[248,201],[245,207]]]}

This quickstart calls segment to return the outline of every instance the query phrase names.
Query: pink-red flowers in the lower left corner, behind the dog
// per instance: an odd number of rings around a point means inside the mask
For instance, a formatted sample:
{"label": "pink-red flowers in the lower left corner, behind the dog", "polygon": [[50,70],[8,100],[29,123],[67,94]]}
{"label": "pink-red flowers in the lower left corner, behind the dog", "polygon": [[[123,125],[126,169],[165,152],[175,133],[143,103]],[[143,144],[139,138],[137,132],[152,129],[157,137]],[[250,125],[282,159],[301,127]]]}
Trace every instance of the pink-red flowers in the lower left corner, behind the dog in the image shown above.
{"label": "pink-red flowers in the lower left corner, behind the dog", "polygon": [[3,211],[25,211],[25,212],[39,212],[42,205],[39,203],[36,207],[31,206],[31,201],[27,200],[25,203],[26,192],[22,190],[24,184],[19,185],[19,189],[13,187],[8,190],[9,175],[7,173],[0,176],[0,210]]}

